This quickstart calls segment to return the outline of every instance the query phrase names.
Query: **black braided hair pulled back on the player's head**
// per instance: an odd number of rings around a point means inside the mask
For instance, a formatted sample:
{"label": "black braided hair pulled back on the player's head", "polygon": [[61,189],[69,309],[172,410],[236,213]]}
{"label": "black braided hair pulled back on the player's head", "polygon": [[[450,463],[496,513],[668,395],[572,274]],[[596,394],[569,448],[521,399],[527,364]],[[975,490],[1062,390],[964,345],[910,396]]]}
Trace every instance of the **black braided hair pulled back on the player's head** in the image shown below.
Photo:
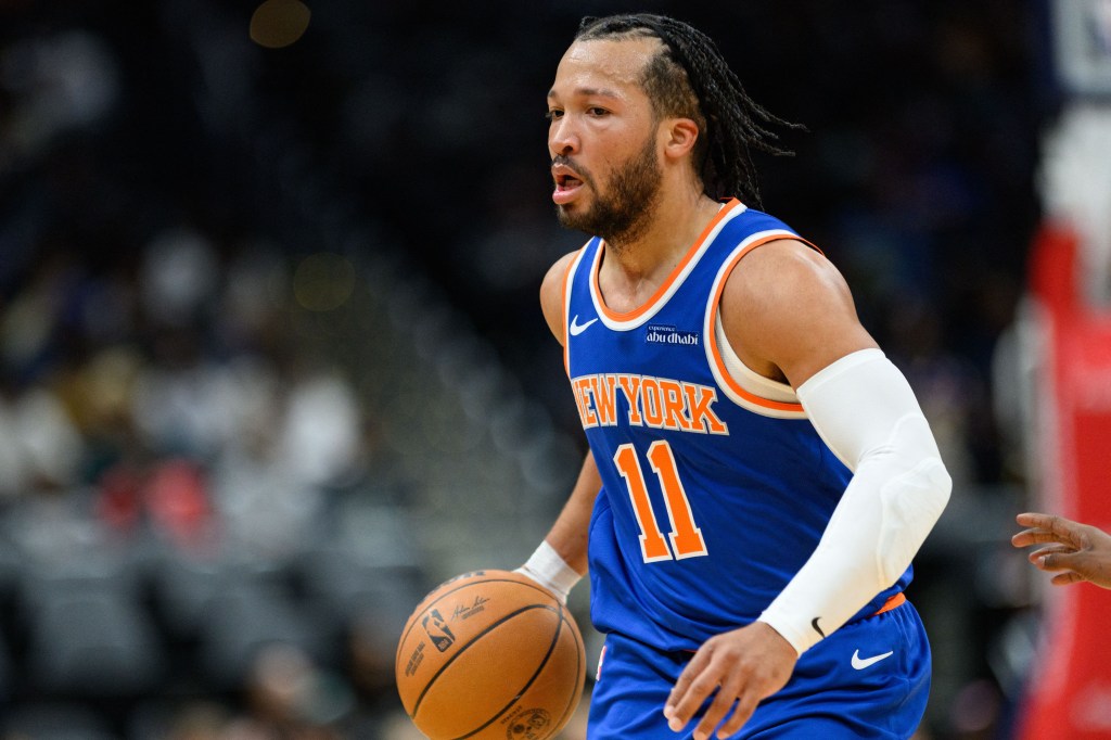
{"label": "black braided hair pulled back on the player's head", "polygon": [[793,156],[778,146],[771,127],[804,127],[769,113],[749,98],[713,40],[682,21],[650,13],[587,17],[574,40],[644,37],[663,43],[663,51],[644,68],[644,91],[658,117],[690,118],[698,124],[702,136],[693,153],[705,193],[714,200],[738,196],[759,206],[751,149]]}

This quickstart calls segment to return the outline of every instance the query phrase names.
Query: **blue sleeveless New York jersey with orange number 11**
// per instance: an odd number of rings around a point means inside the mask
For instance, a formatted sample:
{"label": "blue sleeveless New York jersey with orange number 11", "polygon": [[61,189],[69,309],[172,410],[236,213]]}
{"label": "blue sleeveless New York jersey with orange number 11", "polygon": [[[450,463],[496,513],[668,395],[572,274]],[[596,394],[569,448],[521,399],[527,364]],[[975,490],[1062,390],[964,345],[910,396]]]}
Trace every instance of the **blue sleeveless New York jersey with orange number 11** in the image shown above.
{"label": "blue sleeveless New York jersey with orange number 11", "polygon": [[[783,238],[799,239],[732,200],[629,313],[602,300],[601,239],[569,268],[564,361],[602,479],[589,551],[601,632],[694,650],[752,622],[813,552],[848,486],[790,387],[729,364],[715,333],[731,270]],[[910,579],[908,568],[857,618]]]}

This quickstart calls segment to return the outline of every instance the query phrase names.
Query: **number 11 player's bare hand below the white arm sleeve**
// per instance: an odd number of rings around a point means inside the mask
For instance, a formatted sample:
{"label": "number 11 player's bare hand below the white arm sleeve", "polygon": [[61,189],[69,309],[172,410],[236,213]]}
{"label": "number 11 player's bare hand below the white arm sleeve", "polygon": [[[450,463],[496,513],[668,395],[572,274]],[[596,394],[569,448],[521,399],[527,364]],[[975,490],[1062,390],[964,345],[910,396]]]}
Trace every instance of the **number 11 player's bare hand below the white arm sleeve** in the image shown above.
{"label": "number 11 player's bare hand below the white arm sleeve", "polygon": [[709,738],[730,709],[732,714],[718,730],[718,737],[733,734],[752,717],[757,704],[787,684],[798,660],[791,643],[764,622],[710,638],[694,653],[668,697],[663,707],[668,726],[675,732],[682,730],[717,690],[694,728],[694,740]]}

